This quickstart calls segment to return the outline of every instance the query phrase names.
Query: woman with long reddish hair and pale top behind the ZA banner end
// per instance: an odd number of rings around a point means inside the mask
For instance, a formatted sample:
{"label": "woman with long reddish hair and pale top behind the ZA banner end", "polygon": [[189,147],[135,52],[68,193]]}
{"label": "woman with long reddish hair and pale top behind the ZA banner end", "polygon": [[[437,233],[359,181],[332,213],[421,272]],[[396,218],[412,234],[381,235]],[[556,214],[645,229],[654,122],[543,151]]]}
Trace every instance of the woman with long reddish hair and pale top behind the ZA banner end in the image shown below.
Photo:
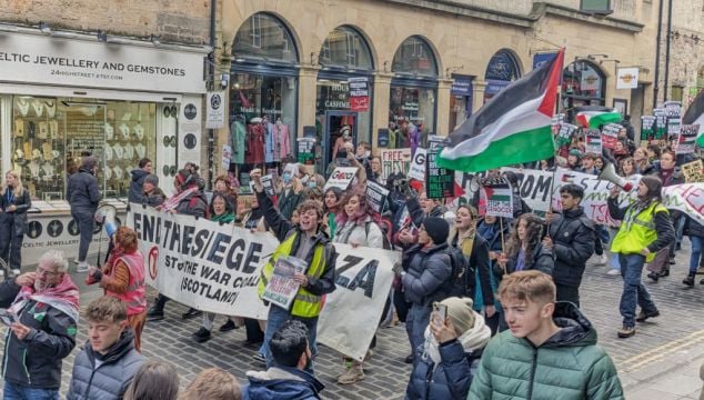
{"label": "woman with long reddish hair and pale top behind the ZA banner end", "polygon": [[[333,242],[352,247],[363,246],[383,249],[383,232],[372,218],[371,206],[366,202],[366,193],[359,187],[344,196],[340,202],[340,212],[335,218],[336,230]],[[382,317],[383,318],[383,317]],[[370,348],[374,348],[375,340]],[[344,358],[345,371],[338,378],[338,383],[346,384],[364,379],[362,362]]]}

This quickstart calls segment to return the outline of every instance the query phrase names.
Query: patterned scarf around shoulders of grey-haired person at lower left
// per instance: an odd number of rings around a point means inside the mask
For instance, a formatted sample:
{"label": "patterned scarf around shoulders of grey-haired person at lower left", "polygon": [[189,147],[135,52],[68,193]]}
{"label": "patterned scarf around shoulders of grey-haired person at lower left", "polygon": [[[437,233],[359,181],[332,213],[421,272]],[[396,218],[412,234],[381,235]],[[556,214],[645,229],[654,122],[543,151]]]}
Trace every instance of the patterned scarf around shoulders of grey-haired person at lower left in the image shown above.
{"label": "patterned scarf around shoulders of grey-haired person at lower left", "polygon": [[78,323],[79,291],[68,273],[63,274],[63,279],[56,287],[44,288],[39,292],[34,291],[33,286],[22,287],[9,310],[19,314],[29,300],[49,304]]}

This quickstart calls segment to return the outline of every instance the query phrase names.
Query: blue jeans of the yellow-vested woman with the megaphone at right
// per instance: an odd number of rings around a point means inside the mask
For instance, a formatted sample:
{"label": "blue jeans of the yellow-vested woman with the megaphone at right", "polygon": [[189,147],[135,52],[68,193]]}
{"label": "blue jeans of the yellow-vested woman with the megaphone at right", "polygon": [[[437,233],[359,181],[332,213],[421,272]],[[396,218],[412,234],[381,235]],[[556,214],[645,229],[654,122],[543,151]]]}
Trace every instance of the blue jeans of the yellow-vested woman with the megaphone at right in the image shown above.
{"label": "blue jeans of the yellow-vested woman with the megaphone at right", "polygon": [[657,311],[651,294],[641,282],[645,257],[641,254],[618,254],[621,277],[623,277],[623,293],[618,310],[623,317],[624,327],[635,327],[635,306],[640,306],[645,313]]}

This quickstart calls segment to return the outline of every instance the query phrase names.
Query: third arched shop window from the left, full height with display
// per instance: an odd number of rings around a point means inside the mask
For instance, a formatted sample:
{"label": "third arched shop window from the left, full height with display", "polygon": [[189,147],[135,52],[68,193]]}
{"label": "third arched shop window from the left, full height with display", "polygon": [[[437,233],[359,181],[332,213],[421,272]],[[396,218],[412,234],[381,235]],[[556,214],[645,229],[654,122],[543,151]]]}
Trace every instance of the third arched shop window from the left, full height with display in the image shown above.
{"label": "third arched shop window from the left, full height with display", "polygon": [[428,42],[410,37],[393,57],[389,104],[389,147],[410,147],[410,138],[420,134],[425,143],[435,132],[438,62]]}

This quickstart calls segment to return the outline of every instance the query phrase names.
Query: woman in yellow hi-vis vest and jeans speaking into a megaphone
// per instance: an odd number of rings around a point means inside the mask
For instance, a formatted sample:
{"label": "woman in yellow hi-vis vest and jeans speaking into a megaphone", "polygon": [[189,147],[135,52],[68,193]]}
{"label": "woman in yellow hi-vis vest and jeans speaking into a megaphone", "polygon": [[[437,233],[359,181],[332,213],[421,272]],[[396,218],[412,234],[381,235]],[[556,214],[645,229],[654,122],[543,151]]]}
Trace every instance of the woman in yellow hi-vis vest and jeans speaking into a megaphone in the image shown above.
{"label": "woman in yellow hi-vis vest and jeans speaking into a megaphone", "polygon": [[[646,176],[638,183],[637,200],[628,207],[618,207],[618,192],[614,187],[609,194],[609,212],[615,220],[621,220],[618,233],[611,243],[611,251],[618,254],[623,293],[621,293],[620,311],[623,316],[623,328],[618,338],[635,334],[635,322],[644,322],[648,318],[660,316],[651,294],[641,282],[645,262],[675,240],[675,230],[670,213],[662,203],[663,183],[657,177]],[[641,312],[635,314],[635,306]]]}

